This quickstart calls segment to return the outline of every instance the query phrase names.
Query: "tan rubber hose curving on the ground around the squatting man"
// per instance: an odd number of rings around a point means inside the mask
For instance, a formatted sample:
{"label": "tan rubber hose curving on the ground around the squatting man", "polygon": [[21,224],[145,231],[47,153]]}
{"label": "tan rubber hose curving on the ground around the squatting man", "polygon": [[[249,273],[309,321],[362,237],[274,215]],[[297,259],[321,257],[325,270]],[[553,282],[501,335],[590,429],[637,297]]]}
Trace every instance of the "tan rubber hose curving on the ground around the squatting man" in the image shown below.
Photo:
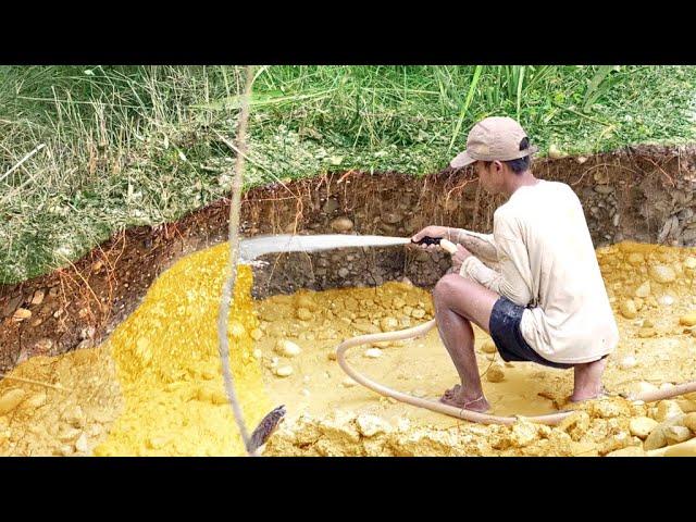
{"label": "tan rubber hose curving on the ground around the squatting man", "polygon": [[[448,241],[447,239],[440,240],[440,246],[445,248],[449,253],[453,253],[457,251],[457,247]],[[443,402],[437,402],[434,400],[427,400],[420,397],[414,397],[409,394],[405,394],[402,391],[397,391],[396,389],[388,388],[380,383],[376,383],[361,373],[358,373],[356,370],[348,365],[346,361],[346,352],[348,349],[353,348],[356,346],[365,345],[368,343],[386,343],[391,340],[402,340],[402,339],[412,339],[417,337],[422,337],[427,334],[435,326],[435,320],[431,320],[426,323],[420,324],[418,326],[413,326],[411,328],[406,328],[397,332],[386,332],[383,334],[366,334],[359,335],[357,337],[352,337],[350,339],[344,340],[340,345],[336,347],[336,360],[340,365],[341,370],[346,372],[353,381],[362,384],[364,387],[376,391],[380,395],[385,397],[391,397],[393,399],[399,400],[401,402],[406,402],[407,405],[415,406],[419,408],[425,408],[431,411],[435,411],[437,413],[444,413],[446,415],[455,417],[457,419],[461,419],[464,421],[477,422],[481,424],[513,424],[523,415],[514,415],[514,417],[499,417],[499,415],[489,415],[487,413],[478,413],[476,411],[465,410],[463,408],[456,408],[453,406],[445,405]],[[655,402],[657,400],[668,399],[671,397],[676,397],[679,395],[688,394],[692,391],[696,391],[696,381],[692,381],[689,383],[680,384],[673,386],[668,389],[659,389],[656,391],[646,391],[643,394],[637,394],[635,396],[629,397],[630,400],[643,400],[645,402]],[[538,424],[548,424],[556,425],[566,419],[568,415],[572,414],[573,410],[570,411],[559,411],[557,413],[550,413],[547,415],[536,415],[536,417],[525,417],[525,419],[538,423]]]}

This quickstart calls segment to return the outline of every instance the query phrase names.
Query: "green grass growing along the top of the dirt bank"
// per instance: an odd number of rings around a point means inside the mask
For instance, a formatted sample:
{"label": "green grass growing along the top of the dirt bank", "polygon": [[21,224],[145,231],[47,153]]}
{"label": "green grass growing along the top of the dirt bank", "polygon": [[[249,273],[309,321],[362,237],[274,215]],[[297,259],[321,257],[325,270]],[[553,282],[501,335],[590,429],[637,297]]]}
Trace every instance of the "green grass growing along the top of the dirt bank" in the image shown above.
{"label": "green grass growing along the top of the dirt bank", "polygon": [[[12,66],[0,79],[0,283],[229,189],[234,152],[220,135],[235,135],[237,67]],[[696,67],[685,66],[261,67],[246,187],[349,169],[436,172],[492,114],[519,119],[542,156],[689,142],[695,100]]]}

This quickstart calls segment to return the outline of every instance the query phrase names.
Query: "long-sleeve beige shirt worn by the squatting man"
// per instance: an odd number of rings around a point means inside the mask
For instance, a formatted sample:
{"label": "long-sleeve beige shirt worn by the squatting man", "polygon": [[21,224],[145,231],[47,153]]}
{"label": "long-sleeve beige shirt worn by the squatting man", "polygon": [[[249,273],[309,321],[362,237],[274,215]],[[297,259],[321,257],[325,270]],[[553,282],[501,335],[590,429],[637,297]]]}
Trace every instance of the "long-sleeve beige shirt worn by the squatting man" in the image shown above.
{"label": "long-sleeve beige shirt worn by the squatting man", "polygon": [[495,245],[499,271],[471,256],[462,273],[527,307],[520,331],[537,353],[582,363],[616,349],[619,330],[582,204],[568,185],[520,187],[496,210],[493,234],[474,235]]}

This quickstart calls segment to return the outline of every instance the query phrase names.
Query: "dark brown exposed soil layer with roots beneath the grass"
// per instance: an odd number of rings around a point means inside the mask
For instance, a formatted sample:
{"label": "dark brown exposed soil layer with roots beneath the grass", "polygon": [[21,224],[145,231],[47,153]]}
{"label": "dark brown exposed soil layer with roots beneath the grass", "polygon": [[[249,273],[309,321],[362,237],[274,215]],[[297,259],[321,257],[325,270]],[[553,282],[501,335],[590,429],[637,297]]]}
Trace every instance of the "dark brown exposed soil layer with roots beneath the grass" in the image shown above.
{"label": "dark brown exposed soil layer with roots beneath the grass", "polygon": [[[585,208],[597,247],[632,239],[696,245],[696,149],[641,147],[591,158],[542,160],[544,179],[568,183]],[[335,173],[249,190],[243,234],[380,234],[407,237],[427,224],[489,232],[502,201],[471,171],[417,178],[397,173]],[[0,370],[35,355],[99,344],[138,306],[179,257],[225,240],[228,200],[176,223],[114,235],[69,268],[0,287]],[[440,252],[345,249],[269,256],[254,270],[257,298],[299,288],[373,286],[407,276],[430,287],[449,268]]]}

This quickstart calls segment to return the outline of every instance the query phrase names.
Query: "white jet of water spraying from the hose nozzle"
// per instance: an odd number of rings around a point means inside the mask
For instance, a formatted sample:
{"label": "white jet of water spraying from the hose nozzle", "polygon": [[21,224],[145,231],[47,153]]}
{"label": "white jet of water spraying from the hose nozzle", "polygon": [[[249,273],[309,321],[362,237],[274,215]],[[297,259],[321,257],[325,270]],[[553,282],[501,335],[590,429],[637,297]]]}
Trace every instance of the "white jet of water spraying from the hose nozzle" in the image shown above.
{"label": "white jet of water spraying from the hose nozzle", "polygon": [[410,237],[350,236],[344,234],[257,236],[241,241],[239,256],[241,262],[250,262],[259,256],[274,252],[313,252],[347,247],[391,247],[409,243],[411,243]]}

